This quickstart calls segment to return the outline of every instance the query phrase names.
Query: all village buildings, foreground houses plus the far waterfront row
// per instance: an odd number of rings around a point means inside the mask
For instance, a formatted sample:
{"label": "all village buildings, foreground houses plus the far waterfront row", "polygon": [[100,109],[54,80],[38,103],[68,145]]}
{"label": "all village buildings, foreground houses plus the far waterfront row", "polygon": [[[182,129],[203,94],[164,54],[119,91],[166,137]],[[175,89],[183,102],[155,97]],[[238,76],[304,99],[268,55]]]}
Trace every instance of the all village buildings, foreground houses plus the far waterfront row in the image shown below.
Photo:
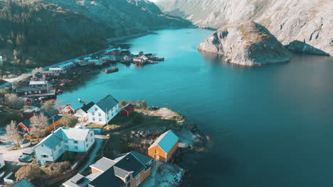
{"label": "all village buildings, foreground houses plus the far waterfront row", "polygon": [[[129,117],[135,110],[135,103],[127,103],[120,107],[120,102],[107,94],[98,101],[85,102],[78,99],[73,103],[58,106],[57,112],[49,111],[42,106],[44,100],[56,98],[60,91],[53,86],[54,79],[62,77],[67,72],[75,72],[80,67],[104,66],[113,62],[124,64],[154,64],[162,61],[157,55],[144,54],[132,55],[128,50],[115,48],[105,50],[99,57],[83,57],[58,64],[33,73],[31,79],[16,87],[14,92],[24,99],[24,105],[28,109],[21,113],[22,121],[16,124],[17,132],[23,137],[20,147],[24,149],[19,162],[33,162],[39,166],[47,166],[56,163],[65,152],[78,152],[89,154],[96,144],[95,138],[100,135],[101,129],[89,128],[89,124],[108,125],[116,115]],[[80,69],[80,71],[82,68]],[[106,73],[116,72],[115,69],[105,69]],[[57,85],[58,86],[58,85]],[[54,109],[54,108],[53,108]],[[45,127],[43,137],[33,133],[32,118],[45,116],[48,125]],[[65,127],[63,119],[72,116],[77,119],[75,127]],[[139,186],[152,173],[154,161],[168,162],[179,144],[179,138],[171,130],[164,130],[156,141],[149,142],[146,153],[130,151],[117,155],[115,159],[102,157],[95,164],[91,164],[91,174],[83,176],[78,173],[63,183],[63,186]],[[38,138],[38,144],[32,145]],[[41,141],[39,139],[41,138]],[[109,137],[112,138],[112,137]],[[12,172],[6,174],[1,171],[5,164],[0,153],[0,179],[4,179],[6,185],[33,186],[27,179],[18,181],[10,179]]]}

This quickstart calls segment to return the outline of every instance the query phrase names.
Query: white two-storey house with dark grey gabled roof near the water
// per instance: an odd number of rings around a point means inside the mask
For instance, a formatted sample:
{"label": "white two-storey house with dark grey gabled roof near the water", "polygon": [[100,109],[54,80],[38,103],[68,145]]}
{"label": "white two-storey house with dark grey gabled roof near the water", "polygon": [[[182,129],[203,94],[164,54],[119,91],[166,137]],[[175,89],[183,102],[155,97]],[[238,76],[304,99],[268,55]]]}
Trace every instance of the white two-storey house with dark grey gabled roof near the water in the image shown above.
{"label": "white two-storey house with dark grey gabled roof near the water", "polygon": [[88,110],[90,123],[107,124],[119,113],[119,101],[107,94]]}

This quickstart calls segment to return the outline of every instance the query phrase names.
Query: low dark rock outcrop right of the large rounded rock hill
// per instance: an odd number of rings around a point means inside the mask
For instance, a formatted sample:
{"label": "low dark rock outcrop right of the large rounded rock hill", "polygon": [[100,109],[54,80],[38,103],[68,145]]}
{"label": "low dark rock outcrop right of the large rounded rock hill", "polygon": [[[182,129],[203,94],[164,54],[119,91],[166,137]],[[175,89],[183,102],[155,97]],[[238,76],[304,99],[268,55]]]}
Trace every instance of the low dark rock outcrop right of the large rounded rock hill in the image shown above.
{"label": "low dark rock outcrop right of the large rounded rock hill", "polygon": [[327,52],[319,50],[316,47],[312,47],[311,45],[308,45],[306,42],[301,42],[299,40],[292,41],[290,42],[290,44],[286,45],[285,47],[287,47],[288,50],[294,52],[302,52],[310,55],[321,55],[329,57],[329,54]]}

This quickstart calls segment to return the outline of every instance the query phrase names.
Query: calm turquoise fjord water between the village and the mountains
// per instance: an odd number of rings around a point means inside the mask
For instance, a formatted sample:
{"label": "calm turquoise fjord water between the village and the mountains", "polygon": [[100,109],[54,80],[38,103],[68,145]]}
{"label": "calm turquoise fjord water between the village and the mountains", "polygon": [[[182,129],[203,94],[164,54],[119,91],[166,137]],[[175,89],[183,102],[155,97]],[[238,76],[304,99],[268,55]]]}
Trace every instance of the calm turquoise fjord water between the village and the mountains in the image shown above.
{"label": "calm turquoise fjord water between the village and the mountains", "polygon": [[160,30],[129,40],[132,52],[165,62],[119,64],[60,101],[147,100],[184,114],[212,137],[208,153],[191,155],[192,186],[332,186],[333,59],[293,55],[292,62],[239,67],[196,50],[211,31]]}

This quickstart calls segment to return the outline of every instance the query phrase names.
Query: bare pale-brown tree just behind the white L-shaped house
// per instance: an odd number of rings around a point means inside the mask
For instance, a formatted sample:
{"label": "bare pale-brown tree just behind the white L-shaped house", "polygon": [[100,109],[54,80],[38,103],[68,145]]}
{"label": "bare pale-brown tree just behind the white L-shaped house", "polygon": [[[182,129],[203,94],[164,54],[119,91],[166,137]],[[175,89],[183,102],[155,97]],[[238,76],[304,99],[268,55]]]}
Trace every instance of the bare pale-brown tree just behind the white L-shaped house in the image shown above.
{"label": "bare pale-brown tree just behind the white L-shaped house", "polygon": [[39,139],[41,137],[44,137],[46,135],[46,130],[48,128],[48,118],[41,113],[40,115],[35,115],[30,119],[31,123],[31,135],[34,135],[35,137]]}

